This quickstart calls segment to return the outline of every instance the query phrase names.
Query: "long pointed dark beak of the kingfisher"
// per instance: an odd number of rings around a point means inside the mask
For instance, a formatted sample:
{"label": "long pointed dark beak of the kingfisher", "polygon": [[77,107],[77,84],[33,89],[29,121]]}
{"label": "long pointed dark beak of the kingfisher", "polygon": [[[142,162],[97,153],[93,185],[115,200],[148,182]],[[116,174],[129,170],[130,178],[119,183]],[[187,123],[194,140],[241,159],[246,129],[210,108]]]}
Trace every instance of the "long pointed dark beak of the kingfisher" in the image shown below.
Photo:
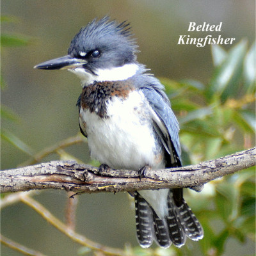
{"label": "long pointed dark beak of the kingfisher", "polygon": [[70,55],[66,55],[60,58],[56,58],[53,60],[45,61],[36,65],[34,68],[38,69],[68,69],[68,68],[76,68],[78,66],[82,66],[86,64],[87,61],[83,59],[77,59]]}

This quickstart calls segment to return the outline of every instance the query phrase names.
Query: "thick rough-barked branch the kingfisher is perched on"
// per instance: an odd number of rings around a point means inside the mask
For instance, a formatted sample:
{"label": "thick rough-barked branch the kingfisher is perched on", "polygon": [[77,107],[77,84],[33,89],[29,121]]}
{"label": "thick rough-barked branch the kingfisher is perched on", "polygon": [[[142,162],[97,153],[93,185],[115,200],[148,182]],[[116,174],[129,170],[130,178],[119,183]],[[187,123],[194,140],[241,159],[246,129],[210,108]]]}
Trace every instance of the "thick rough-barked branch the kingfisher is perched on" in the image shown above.
{"label": "thick rough-barked branch the kingfisher is perched on", "polygon": [[74,161],[52,161],[0,172],[2,193],[31,189],[65,189],[97,193],[159,188],[191,188],[256,165],[256,148],[200,164],[163,170],[108,170]]}

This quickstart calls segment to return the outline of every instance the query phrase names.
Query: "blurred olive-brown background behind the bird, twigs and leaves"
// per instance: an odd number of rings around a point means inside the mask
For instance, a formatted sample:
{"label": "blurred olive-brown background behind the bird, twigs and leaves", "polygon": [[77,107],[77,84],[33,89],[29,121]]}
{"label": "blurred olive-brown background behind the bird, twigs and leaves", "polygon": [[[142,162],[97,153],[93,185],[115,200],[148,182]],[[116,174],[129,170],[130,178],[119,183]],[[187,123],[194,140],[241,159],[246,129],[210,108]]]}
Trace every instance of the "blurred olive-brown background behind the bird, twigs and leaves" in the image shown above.
{"label": "blurred olive-brown background behind the bird, twigs and leaves", "polygon": [[[33,67],[67,54],[70,41],[79,29],[106,14],[120,22],[129,20],[141,51],[138,61],[157,77],[174,81],[195,79],[207,84],[213,71],[209,45],[177,45],[179,35],[197,38],[221,35],[236,38],[234,44],[247,38],[248,45],[255,39],[253,0],[1,1],[1,15],[12,20],[2,22],[2,33],[20,35],[28,42],[26,46],[1,49],[1,76],[5,84],[1,104],[17,121],[14,124],[4,121],[4,128],[26,143],[24,146],[20,142],[20,147],[28,146],[25,153],[2,140],[1,170],[24,163],[29,159],[28,152],[33,155],[79,132],[76,108],[81,93],[79,79],[63,70],[45,71]],[[192,21],[223,24],[220,32],[188,32]],[[90,161],[86,143],[69,147],[67,154],[84,163]],[[43,161],[59,158],[51,154]],[[67,193],[43,191],[36,199],[61,220],[65,219]],[[47,255],[76,255],[79,248],[24,204],[12,205],[1,212],[1,230],[14,241]],[[77,232],[108,246],[123,248],[127,242],[136,246],[133,202],[125,193],[79,196]],[[223,255],[253,255],[253,252],[252,241],[237,244],[231,240]],[[188,255],[185,250],[182,253]],[[1,246],[1,255],[20,253]]]}

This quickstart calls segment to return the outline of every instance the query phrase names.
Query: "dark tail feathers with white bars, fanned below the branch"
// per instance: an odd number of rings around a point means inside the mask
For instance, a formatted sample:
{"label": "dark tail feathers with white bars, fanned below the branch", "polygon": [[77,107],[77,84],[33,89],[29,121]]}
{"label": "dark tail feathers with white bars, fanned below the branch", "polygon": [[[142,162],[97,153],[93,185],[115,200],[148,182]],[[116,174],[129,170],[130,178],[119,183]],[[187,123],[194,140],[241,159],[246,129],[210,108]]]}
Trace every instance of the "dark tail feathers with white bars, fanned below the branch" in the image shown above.
{"label": "dark tail feathers with white bars, fanned below the branch", "polygon": [[149,247],[154,240],[164,248],[172,243],[181,247],[186,243],[186,237],[198,241],[204,236],[202,226],[183,198],[182,189],[170,189],[168,216],[163,219],[138,192],[134,194],[134,199],[137,237],[143,248]]}

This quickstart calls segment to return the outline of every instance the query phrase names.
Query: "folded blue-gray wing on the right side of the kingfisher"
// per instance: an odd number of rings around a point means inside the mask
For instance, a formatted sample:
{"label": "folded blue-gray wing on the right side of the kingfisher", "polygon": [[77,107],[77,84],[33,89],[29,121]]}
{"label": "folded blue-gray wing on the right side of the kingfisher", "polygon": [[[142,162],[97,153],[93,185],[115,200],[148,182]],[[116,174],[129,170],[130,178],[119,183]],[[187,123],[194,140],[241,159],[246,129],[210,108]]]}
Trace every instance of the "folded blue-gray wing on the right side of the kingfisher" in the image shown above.
{"label": "folded blue-gray wing on the right side of the kingfisher", "polygon": [[170,100],[163,92],[164,86],[154,77],[147,84],[140,85],[140,90],[148,100],[152,110],[154,129],[159,135],[166,152],[170,154],[173,166],[181,166],[179,123],[170,106]]}

